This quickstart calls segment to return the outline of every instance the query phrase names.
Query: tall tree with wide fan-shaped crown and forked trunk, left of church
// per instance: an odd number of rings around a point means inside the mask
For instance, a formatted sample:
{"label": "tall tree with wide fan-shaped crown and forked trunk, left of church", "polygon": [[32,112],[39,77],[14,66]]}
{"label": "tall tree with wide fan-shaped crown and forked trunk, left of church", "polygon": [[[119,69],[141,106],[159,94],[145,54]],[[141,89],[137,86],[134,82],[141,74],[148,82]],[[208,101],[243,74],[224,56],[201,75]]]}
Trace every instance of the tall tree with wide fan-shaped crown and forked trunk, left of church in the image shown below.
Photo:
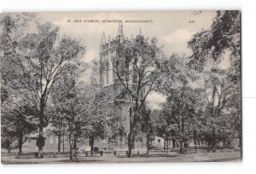
{"label": "tall tree with wide fan-shaped crown and forked trunk, left of church", "polygon": [[10,48],[4,56],[9,56],[15,64],[15,73],[12,74],[17,88],[30,91],[38,103],[38,157],[43,157],[43,128],[48,125],[44,112],[49,92],[58,78],[78,63],[80,55],[84,54],[84,46],[73,38],[59,37],[58,27],[50,23],[38,22],[35,32],[25,33],[24,36],[23,31],[17,30],[15,32],[22,37],[12,38],[10,28],[16,25],[15,17],[9,14],[3,16],[3,47]]}

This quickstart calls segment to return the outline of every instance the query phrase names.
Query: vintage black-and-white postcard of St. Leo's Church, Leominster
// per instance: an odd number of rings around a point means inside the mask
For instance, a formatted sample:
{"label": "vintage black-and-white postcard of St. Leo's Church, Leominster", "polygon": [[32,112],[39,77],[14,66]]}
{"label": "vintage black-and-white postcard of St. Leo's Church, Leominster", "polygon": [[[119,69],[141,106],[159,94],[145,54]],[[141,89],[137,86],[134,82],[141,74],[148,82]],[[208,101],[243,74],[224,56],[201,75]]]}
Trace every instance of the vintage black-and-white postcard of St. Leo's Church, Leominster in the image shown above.
{"label": "vintage black-and-white postcard of St. Leo's Church, Leominster", "polygon": [[0,14],[2,164],[241,161],[241,12]]}

